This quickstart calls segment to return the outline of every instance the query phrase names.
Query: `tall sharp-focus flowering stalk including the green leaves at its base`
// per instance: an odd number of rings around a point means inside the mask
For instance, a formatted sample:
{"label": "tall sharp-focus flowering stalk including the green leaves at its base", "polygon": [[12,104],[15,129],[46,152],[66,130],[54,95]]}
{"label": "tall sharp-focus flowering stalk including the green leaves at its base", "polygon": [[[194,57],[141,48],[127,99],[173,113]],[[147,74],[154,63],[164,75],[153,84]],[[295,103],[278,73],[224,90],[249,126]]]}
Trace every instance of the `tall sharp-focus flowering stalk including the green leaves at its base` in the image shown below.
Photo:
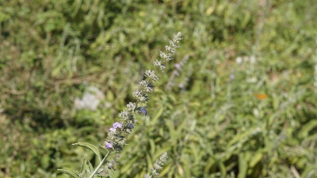
{"label": "tall sharp-focus flowering stalk including the green leaves at its base", "polygon": [[[169,40],[170,45],[165,46],[166,52],[160,51],[161,60],[156,59],[153,62],[153,65],[158,70],[160,70],[161,72],[164,72],[165,64],[163,63],[163,61],[170,61],[173,59],[171,55],[175,54],[175,50],[179,48],[178,43],[181,39],[182,39],[181,32],[174,34],[173,39]],[[145,75],[144,75],[145,79],[139,82],[139,89],[135,90],[132,93],[132,96],[136,99],[136,101],[130,102],[129,104],[127,104],[126,109],[124,109],[118,114],[118,116],[120,117],[120,121],[114,122],[112,124],[112,127],[108,131],[108,136],[106,138],[105,146],[104,146],[105,149],[108,150],[108,152],[102,160],[101,160],[100,152],[98,148],[95,147],[94,145],[91,145],[88,143],[73,144],[73,145],[78,145],[93,151],[99,158],[100,163],[97,165],[97,167],[93,168],[92,164],[89,161],[88,161],[89,166],[87,166],[87,160],[86,158],[84,158],[81,172],[77,172],[77,171],[71,172],[64,169],[58,169],[58,170],[74,178],[84,178],[86,177],[86,173],[88,174],[89,178],[92,178],[95,176],[101,176],[100,173],[103,170],[101,169],[101,166],[106,163],[108,156],[112,152],[121,152],[124,146],[126,145],[125,136],[130,135],[132,129],[134,128],[134,125],[136,125],[136,122],[137,122],[135,116],[140,114],[144,114],[145,116],[147,115],[147,110],[146,110],[147,107],[145,106],[145,104],[149,100],[148,94],[153,93],[153,90],[154,90],[153,83],[159,80],[159,77],[156,76],[155,72],[156,70],[145,71]],[[164,162],[166,161],[166,159],[167,159],[167,155],[164,155]],[[109,167],[107,167],[107,169],[109,172],[109,177],[115,177],[114,171]]]}

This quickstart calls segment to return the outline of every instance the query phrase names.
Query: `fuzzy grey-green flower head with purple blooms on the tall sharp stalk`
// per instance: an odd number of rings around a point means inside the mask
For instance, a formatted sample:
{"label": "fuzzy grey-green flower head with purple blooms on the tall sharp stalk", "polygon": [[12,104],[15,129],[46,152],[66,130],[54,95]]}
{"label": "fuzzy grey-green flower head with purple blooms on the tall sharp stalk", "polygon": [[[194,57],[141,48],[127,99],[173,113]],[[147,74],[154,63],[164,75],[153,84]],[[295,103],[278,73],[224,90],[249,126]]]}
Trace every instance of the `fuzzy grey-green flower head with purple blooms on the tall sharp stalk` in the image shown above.
{"label": "fuzzy grey-green flower head with purple blooms on the tall sharp stalk", "polygon": [[[173,58],[170,54],[174,54],[176,48],[179,48],[177,43],[181,40],[181,32],[174,34],[173,40],[169,40],[170,46],[166,46],[166,53],[160,51],[160,57],[163,61],[169,61]],[[161,60],[153,62],[154,66],[160,71],[164,72],[165,65]],[[159,80],[159,77],[156,76],[155,70],[146,70],[145,80],[139,82],[139,90],[136,90],[132,93],[132,96],[136,99],[135,103],[130,102],[126,109],[121,111],[118,116],[120,117],[120,122],[113,123],[112,127],[108,131],[108,137],[105,142],[105,148],[109,151],[120,152],[123,150],[123,147],[126,145],[126,139],[123,136],[123,133],[129,135],[136,125],[136,115],[144,114],[147,115],[146,106],[144,105],[149,100],[148,94],[152,93],[154,90],[154,82]]]}

